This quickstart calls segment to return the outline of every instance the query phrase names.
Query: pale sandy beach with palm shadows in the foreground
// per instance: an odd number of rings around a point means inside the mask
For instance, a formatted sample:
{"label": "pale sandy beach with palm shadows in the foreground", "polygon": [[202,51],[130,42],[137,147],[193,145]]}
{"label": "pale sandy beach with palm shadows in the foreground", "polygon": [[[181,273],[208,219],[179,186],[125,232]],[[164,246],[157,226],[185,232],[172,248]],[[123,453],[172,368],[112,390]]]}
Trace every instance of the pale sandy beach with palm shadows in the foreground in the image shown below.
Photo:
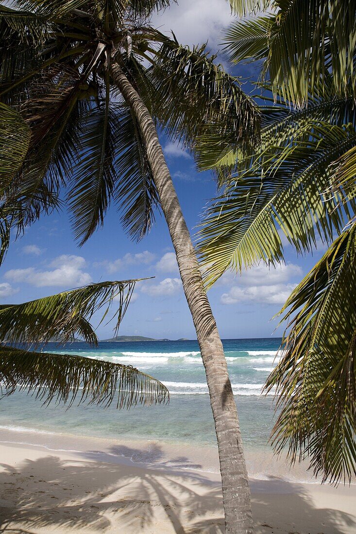
{"label": "pale sandy beach with palm shadows in the foreground", "polygon": [[[1,532],[224,531],[215,450],[211,456],[196,450],[194,457],[193,450],[159,443],[129,447],[44,434],[32,445],[33,437],[2,431]],[[251,478],[251,491],[257,534],[356,532],[355,485],[335,489],[268,474],[265,480]]]}

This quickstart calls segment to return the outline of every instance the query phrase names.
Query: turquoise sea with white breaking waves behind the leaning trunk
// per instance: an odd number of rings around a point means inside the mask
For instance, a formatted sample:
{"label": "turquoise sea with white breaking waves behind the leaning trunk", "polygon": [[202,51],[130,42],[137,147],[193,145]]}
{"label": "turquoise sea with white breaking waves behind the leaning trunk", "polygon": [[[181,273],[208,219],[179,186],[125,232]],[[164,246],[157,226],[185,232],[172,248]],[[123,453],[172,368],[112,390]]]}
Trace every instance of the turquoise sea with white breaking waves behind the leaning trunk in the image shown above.
{"label": "turquoise sea with white breaking waves behind the leaning trunk", "polygon": [[[278,360],[281,340],[224,340],[224,350],[243,432],[245,447],[265,447],[272,428],[273,396],[260,395],[262,384]],[[25,393],[0,400],[0,429],[114,439],[163,439],[174,443],[215,445],[205,372],[196,341],[102,342],[98,349],[84,343],[43,348],[129,364],[164,382],[169,405],[136,406],[129,411],[96,406],[42,407]]]}

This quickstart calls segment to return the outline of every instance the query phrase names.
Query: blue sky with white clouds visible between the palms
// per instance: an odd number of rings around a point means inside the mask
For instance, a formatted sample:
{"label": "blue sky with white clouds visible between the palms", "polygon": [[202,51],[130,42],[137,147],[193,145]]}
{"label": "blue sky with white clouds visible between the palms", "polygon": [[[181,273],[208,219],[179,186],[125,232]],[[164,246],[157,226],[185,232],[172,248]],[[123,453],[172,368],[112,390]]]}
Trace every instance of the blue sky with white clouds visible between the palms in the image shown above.
{"label": "blue sky with white clouds visible between the palms", "polygon": [[[173,30],[183,44],[208,41],[213,51],[221,49],[223,29],[231,21],[225,0],[180,0],[152,23],[161,31]],[[227,60],[222,58],[227,65]],[[248,79],[257,78],[254,67],[235,67],[242,76],[244,90]],[[198,172],[194,159],[162,137],[168,167],[183,214],[192,234],[216,187],[209,172]],[[100,228],[81,248],[75,243],[68,214],[64,211],[47,217],[26,229],[12,242],[0,269],[0,302],[19,303],[79,287],[90,282],[154,277],[136,284],[121,335],[195,339],[192,319],[185,302],[173,246],[164,218],[157,213],[156,224],[139,244],[129,240],[112,206]],[[223,339],[278,336],[283,327],[271,320],[281,309],[291,290],[321,256],[324,246],[314,255],[297,256],[285,244],[286,264],[274,269],[257,265],[237,275],[226,273],[208,292],[220,335]],[[95,322],[98,318],[95,318]],[[99,339],[113,335],[113,325],[97,328]]]}

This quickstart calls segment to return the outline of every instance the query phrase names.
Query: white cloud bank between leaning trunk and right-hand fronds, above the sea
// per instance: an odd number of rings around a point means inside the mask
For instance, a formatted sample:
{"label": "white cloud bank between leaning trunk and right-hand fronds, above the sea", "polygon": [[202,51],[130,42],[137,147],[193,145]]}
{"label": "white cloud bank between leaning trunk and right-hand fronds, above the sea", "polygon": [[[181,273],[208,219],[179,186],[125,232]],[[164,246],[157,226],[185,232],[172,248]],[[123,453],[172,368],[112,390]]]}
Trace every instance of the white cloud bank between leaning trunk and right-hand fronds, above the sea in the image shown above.
{"label": "white cloud bank between leaning trunk and right-hand fronds, above the sea", "polygon": [[[289,297],[296,283],[292,280],[301,278],[303,271],[299,265],[288,263],[277,268],[256,265],[244,271],[240,276],[226,273],[220,284],[234,285],[221,295],[222,304],[237,302],[258,302],[261,304],[283,304]],[[233,278],[234,277],[234,278]]]}

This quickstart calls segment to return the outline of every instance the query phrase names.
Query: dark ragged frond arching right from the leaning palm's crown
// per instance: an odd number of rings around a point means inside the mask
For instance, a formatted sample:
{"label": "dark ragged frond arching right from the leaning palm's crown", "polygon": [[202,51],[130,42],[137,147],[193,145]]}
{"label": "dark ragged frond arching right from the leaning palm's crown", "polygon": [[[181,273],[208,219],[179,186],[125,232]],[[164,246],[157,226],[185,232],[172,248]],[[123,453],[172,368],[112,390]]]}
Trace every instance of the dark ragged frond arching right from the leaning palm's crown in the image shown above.
{"label": "dark ragged frond arching right from the leaning palm's crown", "polygon": [[[238,79],[214,63],[206,46],[182,46],[151,29],[151,40],[161,43],[154,51],[148,75],[154,87],[153,115],[167,135],[184,140],[197,150],[200,135],[229,132],[236,145],[253,146],[259,139],[260,117]],[[159,103],[159,105],[158,105]]]}

